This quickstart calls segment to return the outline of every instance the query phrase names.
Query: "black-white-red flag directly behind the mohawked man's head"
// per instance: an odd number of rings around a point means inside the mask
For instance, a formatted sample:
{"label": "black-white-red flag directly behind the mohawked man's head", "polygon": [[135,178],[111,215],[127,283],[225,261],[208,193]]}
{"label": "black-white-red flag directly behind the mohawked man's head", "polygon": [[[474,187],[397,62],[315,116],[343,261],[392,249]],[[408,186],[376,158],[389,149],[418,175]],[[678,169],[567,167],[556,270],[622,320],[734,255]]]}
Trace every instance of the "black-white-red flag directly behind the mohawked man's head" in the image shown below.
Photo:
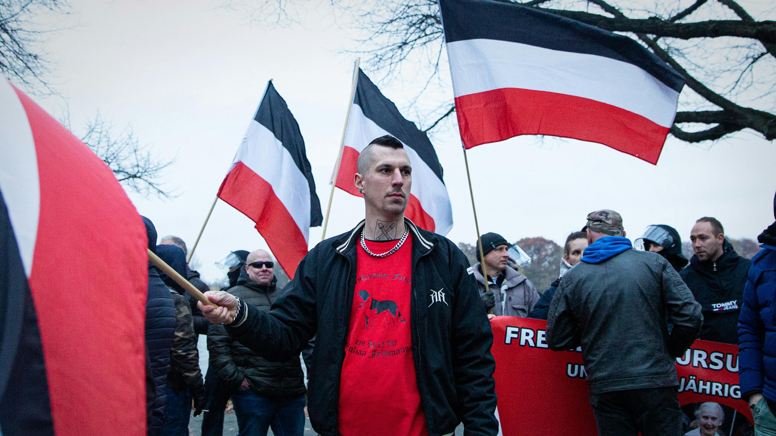
{"label": "black-white-red flag directly behind the mohawked man's head", "polygon": [[353,185],[359,153],[373,139],[390,134],[404,144],[412,164],[410,201],[404,216],[425,230],[447,234],[452,228],[452,206],[442,165],[426,133],[404,119],[360,68],[352,105],[336,186],[361,197]]}

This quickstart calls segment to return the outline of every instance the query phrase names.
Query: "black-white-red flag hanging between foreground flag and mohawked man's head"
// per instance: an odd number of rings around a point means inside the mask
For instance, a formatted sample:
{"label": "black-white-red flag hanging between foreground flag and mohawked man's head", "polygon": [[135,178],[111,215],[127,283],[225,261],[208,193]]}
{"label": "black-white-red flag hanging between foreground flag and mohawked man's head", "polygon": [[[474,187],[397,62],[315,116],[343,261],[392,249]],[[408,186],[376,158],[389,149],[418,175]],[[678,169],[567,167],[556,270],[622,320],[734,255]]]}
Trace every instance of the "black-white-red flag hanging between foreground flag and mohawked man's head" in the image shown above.
{"label": "black-white-red flag hanging between foreground flag and mohawked man's head", "polygon": [[244,213],[293,279],[310,227],[323,216],[304,140],[272,81],[258,105],[218,196]]}

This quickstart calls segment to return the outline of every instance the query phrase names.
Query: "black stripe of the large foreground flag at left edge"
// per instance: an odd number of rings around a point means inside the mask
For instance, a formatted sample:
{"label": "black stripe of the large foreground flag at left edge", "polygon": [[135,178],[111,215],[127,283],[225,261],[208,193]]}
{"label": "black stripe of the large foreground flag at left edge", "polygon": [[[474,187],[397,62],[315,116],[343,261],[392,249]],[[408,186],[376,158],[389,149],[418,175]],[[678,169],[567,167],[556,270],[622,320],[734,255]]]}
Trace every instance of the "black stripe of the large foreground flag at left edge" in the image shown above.
{"label": "black stripe of the large foreground flag at left edge", "polygon": [[[21,310],[20,310],[21,309]],[[74,344],[76,345],[76,344]],[[0,192],[0,433],[54,434],[43,343],[8,209]]]}

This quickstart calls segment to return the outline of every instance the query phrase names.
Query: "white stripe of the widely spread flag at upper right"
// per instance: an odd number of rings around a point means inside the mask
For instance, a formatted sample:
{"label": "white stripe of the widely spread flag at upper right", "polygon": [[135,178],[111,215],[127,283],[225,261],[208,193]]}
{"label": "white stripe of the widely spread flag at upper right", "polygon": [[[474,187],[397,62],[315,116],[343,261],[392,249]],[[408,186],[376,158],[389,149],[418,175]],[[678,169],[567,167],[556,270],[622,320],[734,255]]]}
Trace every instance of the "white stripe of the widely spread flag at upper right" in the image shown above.
{"label": "white stripe of the widely spread flag at upper right", "polygon": [[456,97],[531,89],[604,102],[663,127],[674,122],[679,94],[627,62],[501,40],[456,41],[447,50]]}

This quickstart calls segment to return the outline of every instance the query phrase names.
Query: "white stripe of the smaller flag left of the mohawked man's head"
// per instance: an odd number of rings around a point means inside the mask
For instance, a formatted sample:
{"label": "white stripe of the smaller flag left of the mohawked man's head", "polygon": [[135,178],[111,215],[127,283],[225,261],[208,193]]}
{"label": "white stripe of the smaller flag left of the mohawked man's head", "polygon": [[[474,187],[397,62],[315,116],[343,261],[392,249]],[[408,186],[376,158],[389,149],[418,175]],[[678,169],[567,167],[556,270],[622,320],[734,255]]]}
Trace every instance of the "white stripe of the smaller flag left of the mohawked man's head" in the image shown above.
{"label": "white stripe of the smaller flag left of the mohawked man's head", "polygon": [[254,119],[251,119],[234,158],[234,163],[239,161],[272,185],[275,196],[293,216],[304,239],[310,242],[310,185],[307,178],[286,147]]}

